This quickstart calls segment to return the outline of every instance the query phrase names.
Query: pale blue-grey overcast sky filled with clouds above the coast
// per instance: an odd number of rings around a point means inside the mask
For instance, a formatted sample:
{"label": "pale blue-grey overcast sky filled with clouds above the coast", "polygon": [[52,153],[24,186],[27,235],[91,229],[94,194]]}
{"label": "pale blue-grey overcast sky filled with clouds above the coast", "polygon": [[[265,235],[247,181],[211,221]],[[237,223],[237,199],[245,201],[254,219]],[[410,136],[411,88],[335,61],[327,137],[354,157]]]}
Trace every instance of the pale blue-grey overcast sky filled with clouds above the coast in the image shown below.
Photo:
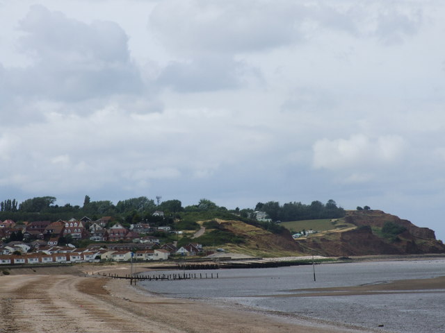
{"label": "pale blue-grey overcast sky filled with clouds above the coast", "polygon": [[445,2],[0,0],[0,200],[333,199],[445,239]]}

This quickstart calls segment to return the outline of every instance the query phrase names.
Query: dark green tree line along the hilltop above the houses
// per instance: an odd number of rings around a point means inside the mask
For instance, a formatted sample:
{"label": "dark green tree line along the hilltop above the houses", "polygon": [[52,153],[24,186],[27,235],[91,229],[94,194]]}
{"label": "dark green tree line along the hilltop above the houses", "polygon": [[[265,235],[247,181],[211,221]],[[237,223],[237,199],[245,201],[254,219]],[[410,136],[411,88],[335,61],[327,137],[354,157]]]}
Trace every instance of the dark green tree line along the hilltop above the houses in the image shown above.
{"label": "dark green tree line along the hilltop above the houses", "polygon": [[[164,216],[154,216],[153,213],[164,212]],[[255,212],[265,212],[272,221],[296,221],[304,219],[339,218],[345,215],[342,207],[337,207],[334,200],[328,200],[323,204],[320,201],[312,201],[310,205],[300,202],[290,202],[280,205],[277,201],[257,203],[254,209],[227,210],[208,199],[200,199],[196,205],[182,206],[180,200],[165,200],[155,203],[146,196],[120,200],[114,205],[110,200],[91,200],[85,196],[83,205],[57,205],[54,196],[42,196],[29,198],[22,203],[15,199],[3,200],[0,203],[0,220],[13,219],[14,221],[57,221],[58,219],[71,219],[88,216],[93,221],[102,216],[112,216],[115,220],[125,225],[146,221],[155,225],[172,224],[174,221],[193,224],[198,219],[213,219],[216,215],[221,219],[234,219],[238,216],[243,220],[255,220]],[[268,228],[273,228],[269,226]]]}

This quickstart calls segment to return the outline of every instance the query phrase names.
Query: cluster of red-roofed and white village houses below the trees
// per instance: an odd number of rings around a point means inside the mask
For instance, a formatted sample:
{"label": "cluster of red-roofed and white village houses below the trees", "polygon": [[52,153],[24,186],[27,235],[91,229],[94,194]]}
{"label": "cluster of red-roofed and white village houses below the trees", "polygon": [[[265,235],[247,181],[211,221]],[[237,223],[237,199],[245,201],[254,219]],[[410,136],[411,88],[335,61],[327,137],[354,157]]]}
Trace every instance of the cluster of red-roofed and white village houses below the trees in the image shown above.
{"label": "cluster of red-roofed and white village houses below the trees", "polygon": [[[154,212],[163,214],[163,212]],[[92,221],[87,216],[69,221],[33,221],[15,223],[0,221],[0,239],[20,240],[0,242],[0,264],[66,264],[76,262],[129,262],[166,260],[171,255],[197,255],[203,252],[200,244],[176,247],[175,243],[161,244],[155,232],[174,232],[170,226],[152,227],[149,223],[131,224],[125,228],[114,223],[111,216]],[[18,236],[17,236],[18,235]],[[13,236],[13,237],[11,237]],[[92,241],[86,248],[76,248],[60,239]]]}

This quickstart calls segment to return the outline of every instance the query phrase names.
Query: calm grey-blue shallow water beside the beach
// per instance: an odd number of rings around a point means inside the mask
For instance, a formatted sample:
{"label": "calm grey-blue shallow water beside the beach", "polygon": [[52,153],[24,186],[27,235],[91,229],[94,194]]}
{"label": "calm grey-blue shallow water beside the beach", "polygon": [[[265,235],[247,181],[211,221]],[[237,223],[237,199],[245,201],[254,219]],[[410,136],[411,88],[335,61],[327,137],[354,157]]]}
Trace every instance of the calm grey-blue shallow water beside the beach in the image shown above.
{"label": "calm grey-blue shallow water beside the beach", "polygon": [[[309,316],[385,332],[445,332],[445,290],[366,296],[277,297],[296,289],[347,287],[445,275],[445,259],[321,264],[282,268],[186,271],[218,279],[141,282],[148,291],[175,298],[244,305],[289,316]],[[169,273],[181,273],[179,271]],[[150,273],[152,274],[152,272]]]}

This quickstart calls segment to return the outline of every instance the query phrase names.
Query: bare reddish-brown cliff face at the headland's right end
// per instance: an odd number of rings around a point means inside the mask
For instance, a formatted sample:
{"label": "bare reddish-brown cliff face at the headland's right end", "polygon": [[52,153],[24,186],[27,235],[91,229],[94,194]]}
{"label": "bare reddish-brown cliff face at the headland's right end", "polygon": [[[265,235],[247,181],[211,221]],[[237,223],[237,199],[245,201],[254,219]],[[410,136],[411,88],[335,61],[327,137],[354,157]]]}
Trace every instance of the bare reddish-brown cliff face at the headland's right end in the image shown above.
{"label": "bare reddish-brown cliff face at the headland's right end", "polygon": [[[433,230],[419,228],[380,210],[350,211],[345,221],[357,228],[327,232],[321,237],[314,234],[298,243],[306,253],[314,249],[317,254],[327,256],[445,253],[444,244],[436,240]],[[387,237],[380,232],[387,222],[405,227],[405,231]]]}

